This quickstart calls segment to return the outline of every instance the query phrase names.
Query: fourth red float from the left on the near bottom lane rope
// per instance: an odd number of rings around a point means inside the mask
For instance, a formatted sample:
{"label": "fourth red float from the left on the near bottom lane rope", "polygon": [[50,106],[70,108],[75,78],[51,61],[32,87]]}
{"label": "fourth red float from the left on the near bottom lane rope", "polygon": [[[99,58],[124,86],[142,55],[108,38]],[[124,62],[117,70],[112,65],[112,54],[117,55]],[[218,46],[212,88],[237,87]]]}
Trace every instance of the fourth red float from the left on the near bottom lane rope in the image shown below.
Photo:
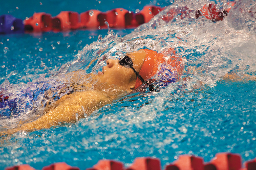
{"label": "fourth red float from the left on the near bottom lane rope", "polygon": [[136,158],[126,170],[161,170],[161,164],[157,158]]}

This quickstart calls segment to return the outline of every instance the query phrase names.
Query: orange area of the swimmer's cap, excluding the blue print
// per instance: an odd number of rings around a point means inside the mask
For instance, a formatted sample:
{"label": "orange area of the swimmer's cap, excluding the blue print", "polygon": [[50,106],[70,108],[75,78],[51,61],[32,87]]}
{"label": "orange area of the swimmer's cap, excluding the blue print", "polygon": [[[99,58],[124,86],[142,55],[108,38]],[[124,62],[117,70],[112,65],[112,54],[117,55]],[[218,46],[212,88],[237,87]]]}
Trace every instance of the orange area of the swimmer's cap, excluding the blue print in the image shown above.
{"label": "orange area of the swimmer's cap, excluding the blue print", "polygon": [[[173,48],[169,48],[167,51],[159,54],[156,51],[148,49],[143,49],[143,51],[146,53],[146,58],[140,69],[139,74],[145,81],[157,74],[159,69],[158,66],[160,64],[165,66],[164,70],[168,69],[173,73],[176,72],[178,73],[178,77],[179,75],[181,75],[182,70],[184,68],[183,65],[181,64],[182,59],[180,58],[179,60],[177,60],[177,57],[174,56],[176,52]],[[176,79],[178,79],[178,77]],[[142,82],[140,81],[139,78],[137,78],[135,89],[138,88],[141,84]]]}

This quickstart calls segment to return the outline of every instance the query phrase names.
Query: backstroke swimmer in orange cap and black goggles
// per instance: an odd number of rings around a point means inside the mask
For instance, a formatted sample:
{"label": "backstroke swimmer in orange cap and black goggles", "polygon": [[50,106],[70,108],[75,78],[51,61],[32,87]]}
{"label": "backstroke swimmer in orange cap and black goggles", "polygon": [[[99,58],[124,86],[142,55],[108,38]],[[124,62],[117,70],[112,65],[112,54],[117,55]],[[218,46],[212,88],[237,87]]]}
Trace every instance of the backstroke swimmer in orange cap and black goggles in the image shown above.
{"label": "backstroke swimmer in orange cap and black goggles", "polygon": [[[90,83],[80,85],[90,90],[63,95],[55,103],[48,105],[44,115],[35,121],[1,133],[45,129],[76,122],[77,119],[84,118],[102,106],[111,104],[141,85],[148,86],[150,81],[153,81],[150,78],[157,72],[161,76],[162,86],[176,82],[184,68],[183,60],[175,56],[172,48],[159,54],[153,50],[139,50],[126,54],[121,60],[109,59],[106,64],[97,75],[87,75],[92,79]],[[158,67],[161,67],[161,71],[158,71]],[[71,73],[72,81],[76,81],[81,71]]]}

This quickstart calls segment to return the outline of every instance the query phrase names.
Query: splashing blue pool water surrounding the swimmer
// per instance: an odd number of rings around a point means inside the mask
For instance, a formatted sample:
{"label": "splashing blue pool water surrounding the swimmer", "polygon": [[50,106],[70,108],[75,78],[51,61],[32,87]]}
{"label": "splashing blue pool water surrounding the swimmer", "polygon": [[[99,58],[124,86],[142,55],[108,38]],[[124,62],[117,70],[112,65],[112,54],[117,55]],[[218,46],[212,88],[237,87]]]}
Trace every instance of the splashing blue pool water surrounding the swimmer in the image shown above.
{"label": "splashing blue pool water surrounding the swimmer", "polygon": [[[181,154],[210,161],[219,152],[238,153],[243,161],[255,158],[256,82],[221,78],[230,70],[256,76],[256,16],[248,12],[255,9],[255,1],[238,1],[223,21],[215,23],[191,18],[195,11],[185,13],[184,19],[180,13],[168,22],[161,19],[170,9],[196,10],[206,3],[174,3],[132,33],[100,30],[1,36],[0,46],[9,49],[1,53],[1,88],[19,97],[18,109],[2,110],[12,117],[0,120],[1,129],[40,115],[44,91],[61,85],[58,74],[77,69],[97,72],[106,59],[142,47],[159,52],[173,47],[187,60],[182,76],[186,81],[160,92],[129,94],[75,124],[2,137],[1,169],[21,163],[40,169],[62,161],[84,169],[99,159],[129,166],[141,156],[157,157],[164,166]],[[228,5],[221,1],[219,7]]]}

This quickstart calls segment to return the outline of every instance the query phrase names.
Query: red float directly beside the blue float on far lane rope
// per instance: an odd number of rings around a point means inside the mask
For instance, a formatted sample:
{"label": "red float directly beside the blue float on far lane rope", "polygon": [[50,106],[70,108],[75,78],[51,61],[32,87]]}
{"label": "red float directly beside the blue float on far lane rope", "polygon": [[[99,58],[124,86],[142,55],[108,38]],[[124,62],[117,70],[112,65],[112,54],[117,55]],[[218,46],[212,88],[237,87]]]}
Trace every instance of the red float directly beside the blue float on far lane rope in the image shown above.
{"label": "red float directly beside the blue float on far lane rope", "polygon": [[52,17],[50,14],[34,13],[32,17],[24,20],[26,32],[47,32],[52,30]]}

